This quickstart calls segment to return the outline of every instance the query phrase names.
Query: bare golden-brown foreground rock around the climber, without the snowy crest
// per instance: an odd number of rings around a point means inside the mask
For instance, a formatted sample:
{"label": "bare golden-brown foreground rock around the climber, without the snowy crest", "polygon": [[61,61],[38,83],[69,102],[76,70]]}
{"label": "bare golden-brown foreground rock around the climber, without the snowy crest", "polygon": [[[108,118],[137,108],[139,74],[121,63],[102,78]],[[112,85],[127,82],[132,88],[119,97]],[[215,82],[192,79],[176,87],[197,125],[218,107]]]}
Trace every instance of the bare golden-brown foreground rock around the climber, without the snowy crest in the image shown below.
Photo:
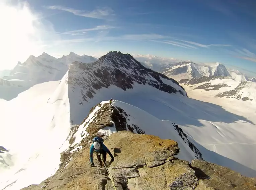
{"label": "bare golden-brown foreground rock around the climber, without the snowy crest", "polygon": [[[115,161],[108,170],[117,190],[256,189],[253,179],[228,168],[199,160],[189,164],[173,157],[179,148],[169,139],[120,131],[110,135],[105,144],[114,153]],[[112,190],[106,169],[89,166],[88,146],[77,153],[65,169],[23,190]]]}

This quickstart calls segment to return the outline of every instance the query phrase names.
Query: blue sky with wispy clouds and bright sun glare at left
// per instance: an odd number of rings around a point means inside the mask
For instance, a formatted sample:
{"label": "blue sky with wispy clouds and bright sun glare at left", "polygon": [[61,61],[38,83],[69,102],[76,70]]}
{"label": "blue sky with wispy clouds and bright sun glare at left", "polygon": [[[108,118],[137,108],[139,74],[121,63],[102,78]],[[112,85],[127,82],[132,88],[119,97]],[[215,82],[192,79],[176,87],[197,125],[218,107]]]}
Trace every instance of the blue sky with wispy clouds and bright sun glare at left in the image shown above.
{"label": "blue sky with wispy clouds and bright sun glare at left", "polygon": [[256,75],[255,0],[1,0],[0,70],[42,52],[220,62]]}

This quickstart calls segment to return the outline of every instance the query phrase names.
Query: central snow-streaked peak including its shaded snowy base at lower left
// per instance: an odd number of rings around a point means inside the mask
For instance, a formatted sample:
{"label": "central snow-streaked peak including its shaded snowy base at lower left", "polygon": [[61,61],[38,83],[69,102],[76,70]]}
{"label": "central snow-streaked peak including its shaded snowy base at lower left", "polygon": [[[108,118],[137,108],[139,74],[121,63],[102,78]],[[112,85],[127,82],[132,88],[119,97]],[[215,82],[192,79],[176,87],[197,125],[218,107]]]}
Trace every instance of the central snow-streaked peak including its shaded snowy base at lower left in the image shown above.
{"label": "central snow-streaked peak including its shaded snowy base at lower left", "polygon": [[[73,113],[88,113],[85,110],[88,107],[84,105],[92,107],[95,105],[93,100],[99,99],[97,102],[101,102],[107,97],[115,98],[124,91],[139,93],[143,89],[158,89],[169,94],[187,96],[184,88],[174,79],[144,67],[129,54],[117,51],[109,52],[92,63],[72,63],[61,81],[63,83],[68,85],[68,97],[71,97],[70,120],[74,124],[80,123],[84,116]],[[100,91],[103,91],[104,99],[100,97]]]}

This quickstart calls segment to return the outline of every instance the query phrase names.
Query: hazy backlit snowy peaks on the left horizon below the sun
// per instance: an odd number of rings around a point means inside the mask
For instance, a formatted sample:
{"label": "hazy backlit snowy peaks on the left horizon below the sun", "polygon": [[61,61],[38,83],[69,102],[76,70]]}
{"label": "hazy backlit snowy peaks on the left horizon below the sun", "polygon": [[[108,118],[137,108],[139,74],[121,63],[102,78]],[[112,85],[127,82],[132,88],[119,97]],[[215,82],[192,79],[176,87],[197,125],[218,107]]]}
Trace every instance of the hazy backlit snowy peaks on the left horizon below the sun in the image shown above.
{"label": "hazy backlit snowy peaks on the left horizon below the sun", "polygon": [[95,60],[91,56],[80,56],[73,52],[59,59],[47,53],[38,57],[30,55],[24,63],[18,62],[9,75],[0,78],[0,98],[11,100],[35,84],[61,80],[74,61],[88,63]]}

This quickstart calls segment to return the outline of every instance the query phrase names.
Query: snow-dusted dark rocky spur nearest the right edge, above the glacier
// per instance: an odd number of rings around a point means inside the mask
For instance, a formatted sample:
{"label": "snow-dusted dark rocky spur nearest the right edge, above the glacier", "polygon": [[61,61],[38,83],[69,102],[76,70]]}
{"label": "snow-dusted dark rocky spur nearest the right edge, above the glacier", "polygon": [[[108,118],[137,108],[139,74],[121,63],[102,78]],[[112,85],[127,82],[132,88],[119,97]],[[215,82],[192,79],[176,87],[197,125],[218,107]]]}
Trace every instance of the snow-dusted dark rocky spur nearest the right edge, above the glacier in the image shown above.
{"label": "snow-dusted dark rocky spur nearest the right edge, above the glacier", "polygon": [[252,101],[253,99],[249,98],[249,97],[243,97],[241,96],[241,94],[239,94],[239,92],[244,89],[247,88],[246,84],[248,82],[241,82],[234,90],[229,90],[220,94],[217,94],[216,97],[228,97],[228,98],[236,98],[238,100],[242,100],[242,101],[247,101],[250,100]]}

